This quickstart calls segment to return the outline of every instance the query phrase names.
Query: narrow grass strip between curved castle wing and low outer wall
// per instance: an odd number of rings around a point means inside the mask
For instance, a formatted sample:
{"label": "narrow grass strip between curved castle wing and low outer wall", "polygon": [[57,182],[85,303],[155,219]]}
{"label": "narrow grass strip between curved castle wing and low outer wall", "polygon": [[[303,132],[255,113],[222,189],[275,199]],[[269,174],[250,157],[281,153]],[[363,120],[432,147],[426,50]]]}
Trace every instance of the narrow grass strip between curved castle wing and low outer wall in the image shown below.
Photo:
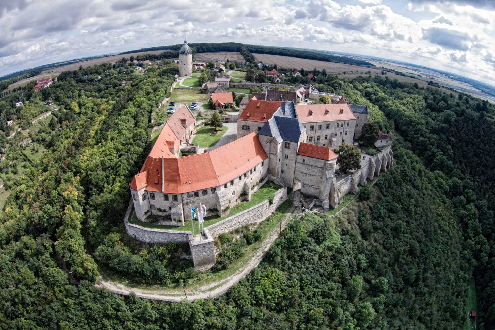
{"label": "narrow grass strip between curved castle wing and low outer wall", "polygon": [[[227,219],[228,217],[231,217],[233,215],[236,215],[242,211],[247,210],[248,208],[253,207],[254,205],[257,205],[267,199],[270,196],[273,196],[274,193],[278,190],[281,189],[282,187],[279,185],[276,185],[272,182],[267,182],[266,184],[263,185],[260,189],[258,189],[255,193],[251,195],[251,200],[247,201],[242,201],[236,206],[232,207],[230,209],[230,213],[224,217],[219,217],[219,216],[209,216],[204,218],[204,228],[216,224],[219,221],[222,221],[224,219]],[[131,224],[139,225],[142,227],[146,228],[154,228],[154,229],[166,229],[166,230],[175,230],[175,231],[184,231],[184,232],[191,232],[191,220],[186,222],[184,226],[160,226],[160,225],[155,225],[155,224],[149,224],[147,222],[141,222],[139,219],[136,217],[136,214],[134,211],[132,212],[132,217],[129,219],[129,222]],[[198,231],[198,221],[194,220],[194,230],[197,233]]]}

